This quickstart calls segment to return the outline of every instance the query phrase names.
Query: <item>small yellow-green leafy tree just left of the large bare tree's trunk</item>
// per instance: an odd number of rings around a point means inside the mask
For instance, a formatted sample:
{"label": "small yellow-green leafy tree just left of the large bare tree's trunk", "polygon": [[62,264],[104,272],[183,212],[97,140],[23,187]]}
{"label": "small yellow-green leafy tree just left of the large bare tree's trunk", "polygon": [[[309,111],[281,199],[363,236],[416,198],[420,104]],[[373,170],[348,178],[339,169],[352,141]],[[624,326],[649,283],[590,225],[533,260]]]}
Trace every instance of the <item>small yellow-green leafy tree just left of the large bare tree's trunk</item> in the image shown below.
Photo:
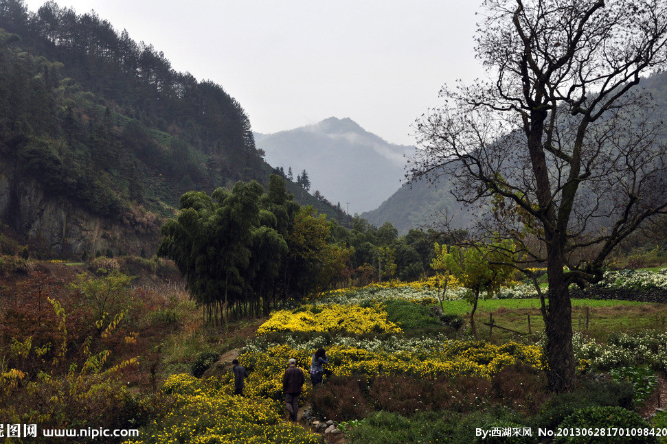
{"label": "small yellow-green leafy tree just left of the large bare tree's trunk", "polygon": [[467,248],[452,246],[449,251],[446,245],[442,247],[437,243],[435,245],[436,257],[433,259],[433,268],[450,274],[468,290],[466,301],[473,306],[470,313],[470,327],[475,338],[479,339],[475,329],[475,310],[479,295],[483,294],[487,299],[493,294],[498,294],[502,286],[511,281],[515,272],[514,244],[504,241],[490,246]]}

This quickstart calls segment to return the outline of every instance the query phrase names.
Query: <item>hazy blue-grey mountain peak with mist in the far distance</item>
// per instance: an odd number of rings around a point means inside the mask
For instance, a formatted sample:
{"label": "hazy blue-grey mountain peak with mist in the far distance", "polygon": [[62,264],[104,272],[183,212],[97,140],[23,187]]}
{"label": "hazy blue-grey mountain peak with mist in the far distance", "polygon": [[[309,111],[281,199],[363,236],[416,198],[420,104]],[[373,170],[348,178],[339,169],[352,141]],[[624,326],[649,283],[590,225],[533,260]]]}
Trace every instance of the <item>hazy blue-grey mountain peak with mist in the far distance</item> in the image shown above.
{"label": "hazy blue-grey mountain peak with mist in the far distance", "polygon": [[291,167],[294,178],[306,170],[310,191],[319,191],[350,213],[378,207],[400,187],[404,154],[414,147],[396,145],[361,128],[349,118],[330,117],[318,124],[273,134],[255,133],[255,143],[273,167]]}

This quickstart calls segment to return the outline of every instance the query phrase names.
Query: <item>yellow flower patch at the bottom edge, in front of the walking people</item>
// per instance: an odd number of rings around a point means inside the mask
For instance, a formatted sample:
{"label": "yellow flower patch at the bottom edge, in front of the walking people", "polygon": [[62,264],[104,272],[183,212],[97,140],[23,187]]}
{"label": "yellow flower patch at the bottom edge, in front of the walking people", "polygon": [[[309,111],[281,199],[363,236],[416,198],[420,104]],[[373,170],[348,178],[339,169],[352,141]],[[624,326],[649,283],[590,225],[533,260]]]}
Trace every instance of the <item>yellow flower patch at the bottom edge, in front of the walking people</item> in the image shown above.
{"label": "yellow flower patch at the bottom edge, in front of the walking people", "polygon": [[173,375],[163,385],[163,417],[139,441],[148,443],[315,444],[321,436],[282,420],[282,405],[260,397],[234,396],[190,375]]}

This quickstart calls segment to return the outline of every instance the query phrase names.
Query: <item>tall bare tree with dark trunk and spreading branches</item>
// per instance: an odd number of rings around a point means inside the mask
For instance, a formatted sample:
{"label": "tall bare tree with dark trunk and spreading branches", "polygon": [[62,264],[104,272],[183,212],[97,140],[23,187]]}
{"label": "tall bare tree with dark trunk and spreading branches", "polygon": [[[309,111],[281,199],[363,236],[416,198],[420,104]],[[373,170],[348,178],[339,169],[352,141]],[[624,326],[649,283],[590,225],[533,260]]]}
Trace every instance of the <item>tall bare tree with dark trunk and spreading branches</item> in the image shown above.
{"label": "tall bare tree with dark trunk and spreading branches", "polygon": [[441,91],[446,104],[417,121],[409,176],[451,180],[457,200],[488,210],[475,239],[512,238],[518,266],[546,265],[549,382],[567,390],[569,285],[599,281],[611,250],[667,207],[661,126],[635,88],[667,65],[667,2],[483,5],[476,51],[492,80]]}

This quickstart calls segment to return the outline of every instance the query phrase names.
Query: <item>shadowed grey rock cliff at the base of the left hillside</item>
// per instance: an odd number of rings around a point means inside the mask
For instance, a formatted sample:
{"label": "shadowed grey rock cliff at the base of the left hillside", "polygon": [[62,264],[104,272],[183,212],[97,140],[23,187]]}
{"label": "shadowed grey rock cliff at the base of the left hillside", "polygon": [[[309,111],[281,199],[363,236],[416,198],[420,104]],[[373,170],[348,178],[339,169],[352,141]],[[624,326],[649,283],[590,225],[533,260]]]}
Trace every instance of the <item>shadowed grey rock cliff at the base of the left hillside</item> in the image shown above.
{"label": "shadowed grey rock cliff at the base of the left hillside", "polygon": [[118,220],[91,215],[75,203],[49,196],[32,178],[0,170],[0,220],[32,244],[58,257],[95,255],[98,251],[152,255],[159,243],[159,221],[130,212]]}

